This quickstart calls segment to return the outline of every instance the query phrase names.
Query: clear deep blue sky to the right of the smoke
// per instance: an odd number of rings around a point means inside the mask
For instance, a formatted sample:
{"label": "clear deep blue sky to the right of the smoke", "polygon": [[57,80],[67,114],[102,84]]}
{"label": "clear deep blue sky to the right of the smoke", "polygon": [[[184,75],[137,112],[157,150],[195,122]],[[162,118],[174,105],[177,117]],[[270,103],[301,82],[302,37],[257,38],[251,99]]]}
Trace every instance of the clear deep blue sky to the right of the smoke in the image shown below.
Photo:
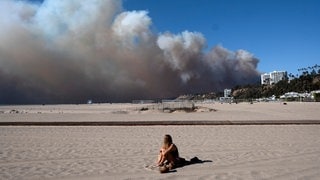
{"label": "clear deep blue sky to the right of the smoke", "polygon": [[201,32],[208,48],[245,49],[262,72],[320,64],[319,0],[124,0],[125,10],[147,10],[155,31]]}

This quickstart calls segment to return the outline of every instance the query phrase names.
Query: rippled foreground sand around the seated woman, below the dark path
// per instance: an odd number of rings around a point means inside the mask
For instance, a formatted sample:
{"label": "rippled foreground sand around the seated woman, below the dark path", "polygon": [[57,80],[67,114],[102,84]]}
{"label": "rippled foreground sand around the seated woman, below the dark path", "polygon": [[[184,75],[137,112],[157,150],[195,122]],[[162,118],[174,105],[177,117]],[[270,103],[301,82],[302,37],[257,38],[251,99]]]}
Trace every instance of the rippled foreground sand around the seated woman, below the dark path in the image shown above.
{"label": "rippled foreground sand around the seated woman, below the dark path", "polygon": [[[170,133],[181,156],[159,174]],[[320,126],[0,127],[0,179],[319,179]]]}

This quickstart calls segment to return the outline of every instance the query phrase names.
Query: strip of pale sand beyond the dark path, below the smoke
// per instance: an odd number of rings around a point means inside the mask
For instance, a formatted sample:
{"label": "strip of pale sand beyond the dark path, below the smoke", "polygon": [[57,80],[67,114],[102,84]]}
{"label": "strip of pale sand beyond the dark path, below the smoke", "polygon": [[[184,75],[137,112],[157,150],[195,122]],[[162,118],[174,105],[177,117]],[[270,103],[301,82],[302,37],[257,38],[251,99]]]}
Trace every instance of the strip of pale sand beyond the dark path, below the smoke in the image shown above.
{"label": "strip of pale sand beyond the dark path, below the smoke", "polygon": [[[196,104],[197,113],[163,113],[147,104],[0,106],[0,122],[320,120],[320,103]],[[207,112],[207,108],[216,111]],[[204,111],[204,112],[201,112]]]}

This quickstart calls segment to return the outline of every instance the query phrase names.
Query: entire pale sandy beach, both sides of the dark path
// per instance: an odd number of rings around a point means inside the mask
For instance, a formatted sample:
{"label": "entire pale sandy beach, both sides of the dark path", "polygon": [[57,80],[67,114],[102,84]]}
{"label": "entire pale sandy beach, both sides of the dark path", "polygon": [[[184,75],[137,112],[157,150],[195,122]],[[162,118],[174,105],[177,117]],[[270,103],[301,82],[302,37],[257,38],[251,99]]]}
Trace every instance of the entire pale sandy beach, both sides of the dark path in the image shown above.
{"label": "entire pale sandy beach, both sides of the dark path", "polygon": [[[0,106],[0,121],[320,120],[317,103],[201,104],[194,113],[144,106]],[[167,174],[146,168],[164,134],[182,157],[206,162]],[[0,126],[0,179],[319,179],[319,137],[319,125]]]}

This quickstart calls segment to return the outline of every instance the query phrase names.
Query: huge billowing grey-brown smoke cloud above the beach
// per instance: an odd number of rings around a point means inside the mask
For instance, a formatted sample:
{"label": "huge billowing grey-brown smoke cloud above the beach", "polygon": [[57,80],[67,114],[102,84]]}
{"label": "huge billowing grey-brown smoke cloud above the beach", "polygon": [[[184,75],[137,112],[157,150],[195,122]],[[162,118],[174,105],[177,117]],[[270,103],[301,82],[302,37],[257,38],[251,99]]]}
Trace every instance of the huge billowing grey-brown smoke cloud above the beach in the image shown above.
{"label": "huge billowing grey-brown smoke cloud above the beach", "polygon": [[0,104],[121,102],[256,81],[249,52],[201,33],[156,34],[118,0],[0,2]]}

